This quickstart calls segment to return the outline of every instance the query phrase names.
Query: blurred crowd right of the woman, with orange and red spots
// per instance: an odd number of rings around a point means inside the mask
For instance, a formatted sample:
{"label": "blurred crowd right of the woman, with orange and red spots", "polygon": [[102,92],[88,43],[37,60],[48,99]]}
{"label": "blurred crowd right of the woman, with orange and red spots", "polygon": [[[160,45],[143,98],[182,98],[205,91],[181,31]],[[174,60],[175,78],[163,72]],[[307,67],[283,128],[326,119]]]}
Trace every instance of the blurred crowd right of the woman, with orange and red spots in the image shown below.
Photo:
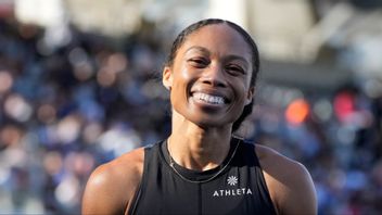
{"label": "blurred crowd right of the woman, with orange and red spots", "polygon": [[381,213],[381,98],[352,85],[329,94],[267,86],[258,99],[254,141],[308,168],[318,214]]}

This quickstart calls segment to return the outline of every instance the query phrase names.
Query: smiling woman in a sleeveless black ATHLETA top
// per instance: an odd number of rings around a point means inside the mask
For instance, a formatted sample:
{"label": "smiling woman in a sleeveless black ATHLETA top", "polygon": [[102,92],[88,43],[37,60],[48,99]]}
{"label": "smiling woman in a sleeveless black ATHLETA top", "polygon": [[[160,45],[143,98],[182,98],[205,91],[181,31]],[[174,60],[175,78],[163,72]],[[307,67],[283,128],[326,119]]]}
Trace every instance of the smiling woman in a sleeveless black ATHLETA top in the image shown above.
{"label": "smiling woman in a sleeveless black ATHLETA top", "polygon": [[305,167],[233,131],[252,111],[258,51],[240,26],[204,20],[175,40],[163,71],[167,140],[98,167],[84,214],[316,214]]}

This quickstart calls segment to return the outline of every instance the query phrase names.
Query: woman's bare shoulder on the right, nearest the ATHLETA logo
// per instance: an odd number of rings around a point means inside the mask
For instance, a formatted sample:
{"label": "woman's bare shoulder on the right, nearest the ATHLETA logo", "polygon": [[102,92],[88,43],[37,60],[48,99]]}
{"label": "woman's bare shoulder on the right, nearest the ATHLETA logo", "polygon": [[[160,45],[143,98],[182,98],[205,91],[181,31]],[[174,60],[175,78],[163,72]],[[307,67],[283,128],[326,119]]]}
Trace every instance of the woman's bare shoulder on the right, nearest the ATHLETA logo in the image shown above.
{"label": "woman's bare shoulder on the right, nearest the ATHLETA logo", "polygon": [[256,154],[279,214],[317,214],[315,187],[303,164],[264,146],[256,144]]}

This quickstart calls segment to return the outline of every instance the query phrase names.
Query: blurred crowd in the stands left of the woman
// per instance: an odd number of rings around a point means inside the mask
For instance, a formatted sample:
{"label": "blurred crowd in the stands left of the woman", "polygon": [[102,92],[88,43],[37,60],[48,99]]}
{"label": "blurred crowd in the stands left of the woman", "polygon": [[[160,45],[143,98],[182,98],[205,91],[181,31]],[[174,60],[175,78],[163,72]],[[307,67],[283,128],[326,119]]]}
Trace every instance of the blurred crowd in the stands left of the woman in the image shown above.
{"label": "blurred crowd in the stands left of the woman", "polygon": [[[78,214],[90,172],[169,129],[161,47],[0,21],[0,214]],[[143,35],[142,35],[143,34]]]}

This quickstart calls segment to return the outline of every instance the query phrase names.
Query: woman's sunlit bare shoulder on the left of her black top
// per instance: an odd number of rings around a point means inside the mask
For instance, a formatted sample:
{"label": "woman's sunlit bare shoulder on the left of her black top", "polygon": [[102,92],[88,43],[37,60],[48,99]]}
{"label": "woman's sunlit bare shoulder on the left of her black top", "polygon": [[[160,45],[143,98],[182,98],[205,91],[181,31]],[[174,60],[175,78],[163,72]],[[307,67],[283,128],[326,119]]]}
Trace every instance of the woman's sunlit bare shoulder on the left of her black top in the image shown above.
{"label": "woman's sunlit bare shoulder on the left of her black top", "polygon": [[144,150],[139,148],[97,167],[82,197],[82,214],[123,214],[142,177]]}

